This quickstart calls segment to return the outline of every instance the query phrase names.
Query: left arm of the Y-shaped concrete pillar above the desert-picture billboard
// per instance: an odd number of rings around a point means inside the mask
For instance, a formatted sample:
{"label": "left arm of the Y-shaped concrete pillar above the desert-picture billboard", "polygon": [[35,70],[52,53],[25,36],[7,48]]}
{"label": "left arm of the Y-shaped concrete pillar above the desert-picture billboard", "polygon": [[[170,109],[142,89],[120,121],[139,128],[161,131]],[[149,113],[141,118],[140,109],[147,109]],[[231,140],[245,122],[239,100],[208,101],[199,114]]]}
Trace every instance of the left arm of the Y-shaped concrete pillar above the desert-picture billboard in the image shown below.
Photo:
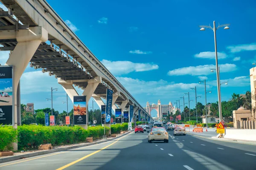
{"label": "left arm of the Y-shaped concrete pillar above the desert-picture billboard", "polygon": [[62,80],[61,78],[58,78],[58,84],[60,84],[64,88],[67,95],[69,96],[71,101],[74,103],[74,96],[79,96],[79,94],[74,88],[72,80]]}

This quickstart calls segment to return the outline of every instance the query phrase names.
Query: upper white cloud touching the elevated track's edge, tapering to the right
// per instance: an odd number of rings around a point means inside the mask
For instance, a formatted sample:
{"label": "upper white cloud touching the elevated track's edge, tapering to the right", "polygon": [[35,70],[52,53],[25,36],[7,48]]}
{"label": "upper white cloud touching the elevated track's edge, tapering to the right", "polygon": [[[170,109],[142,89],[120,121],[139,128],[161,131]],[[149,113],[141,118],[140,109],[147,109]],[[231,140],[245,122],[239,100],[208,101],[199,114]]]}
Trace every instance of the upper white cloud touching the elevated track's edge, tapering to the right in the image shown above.
{"label": "upper white cloud touching the elevated track's edge, tapering to the right", "polygon": [[133,71],[140,72],[140,71],[150,71],[150,70],[157,70],[159,67],[153,63],[134,63],[130,61],[109,61],[106,59],[102,60],[102,64],[105,65],[106,68],[113,74],[113,75],[122,75],[128,74]]}

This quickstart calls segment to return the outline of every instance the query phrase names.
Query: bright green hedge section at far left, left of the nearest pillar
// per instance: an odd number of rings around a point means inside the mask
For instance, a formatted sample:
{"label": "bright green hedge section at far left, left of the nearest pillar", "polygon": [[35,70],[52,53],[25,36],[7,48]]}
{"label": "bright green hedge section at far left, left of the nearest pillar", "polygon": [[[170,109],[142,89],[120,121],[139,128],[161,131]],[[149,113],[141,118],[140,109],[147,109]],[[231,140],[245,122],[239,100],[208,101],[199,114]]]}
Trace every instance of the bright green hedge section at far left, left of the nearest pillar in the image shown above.
{"label": "bright green hedge section at far left, left of the nearest pillar", "polygon": [[11,150],[12,142],[17,142],[17,130],[12,126],[0,126],[0,151]]}

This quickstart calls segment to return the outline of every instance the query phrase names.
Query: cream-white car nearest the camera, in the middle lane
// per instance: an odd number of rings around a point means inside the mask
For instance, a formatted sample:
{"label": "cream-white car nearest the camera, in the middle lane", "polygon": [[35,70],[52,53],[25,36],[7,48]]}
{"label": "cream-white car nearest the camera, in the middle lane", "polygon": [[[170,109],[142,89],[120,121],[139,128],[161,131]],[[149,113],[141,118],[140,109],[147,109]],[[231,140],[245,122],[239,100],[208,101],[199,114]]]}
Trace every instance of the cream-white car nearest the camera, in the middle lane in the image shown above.
{"label": "cream-white car nearest the camera, in the middle lane", "polygon": [[148,133],[148,142],[153,141],[169,142],[169,135],[164,127],[152,127],[151,132]]}

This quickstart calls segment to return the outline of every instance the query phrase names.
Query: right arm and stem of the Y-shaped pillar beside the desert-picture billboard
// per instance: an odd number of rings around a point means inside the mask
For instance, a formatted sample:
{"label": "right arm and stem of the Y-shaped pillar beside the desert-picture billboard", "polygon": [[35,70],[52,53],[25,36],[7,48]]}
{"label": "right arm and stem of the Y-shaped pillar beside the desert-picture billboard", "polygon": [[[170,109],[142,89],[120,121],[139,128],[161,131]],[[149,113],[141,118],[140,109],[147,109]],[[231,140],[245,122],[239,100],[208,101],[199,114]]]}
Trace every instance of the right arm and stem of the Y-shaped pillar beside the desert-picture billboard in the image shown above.
{"label": "right arm and stem of the Y-shaped pillar beside the desert-picture billboard", "polygon": [[93,95],[94,91],[96,90],[96,88],[98,87],[100,82],[102,82],[101,77],[95,77],[95,79],[88,80],[88,85],[86,86],[86,88],[84,89],[84,92],[82,94],[83,96],[86,96],[86,108],[87,108],[87,118],[86,118],[87,125],[82,125],[81,126],[84,129],[88,128],[88,119],[89,119],[88,103],[89,103],[89,100],[90,100],[91,96]]}

